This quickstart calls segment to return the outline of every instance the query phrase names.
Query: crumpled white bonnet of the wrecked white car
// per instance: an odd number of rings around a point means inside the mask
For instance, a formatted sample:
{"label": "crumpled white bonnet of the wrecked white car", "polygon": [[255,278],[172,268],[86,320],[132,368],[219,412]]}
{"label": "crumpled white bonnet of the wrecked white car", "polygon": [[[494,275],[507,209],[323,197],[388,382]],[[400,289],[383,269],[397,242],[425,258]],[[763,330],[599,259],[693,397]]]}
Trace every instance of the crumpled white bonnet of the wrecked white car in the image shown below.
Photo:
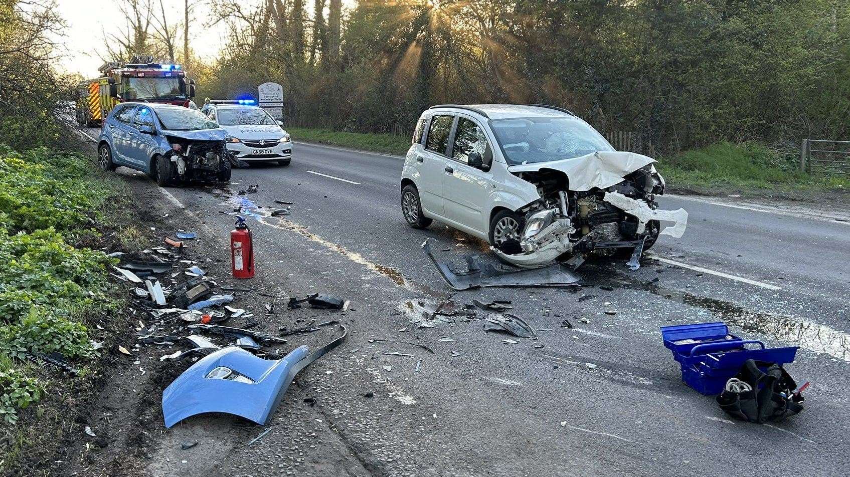
{"label": "crumpled white bonnet of the wrecked white car", "polygon": [[508,166],[507,170],[511,172],[541,171],[542,169],[562,171],[570,179],[570,190],[587,191],[619,184],[623,182],[623,177],[654,162],[657,161],[643,154],[599,151],[572,159]]}

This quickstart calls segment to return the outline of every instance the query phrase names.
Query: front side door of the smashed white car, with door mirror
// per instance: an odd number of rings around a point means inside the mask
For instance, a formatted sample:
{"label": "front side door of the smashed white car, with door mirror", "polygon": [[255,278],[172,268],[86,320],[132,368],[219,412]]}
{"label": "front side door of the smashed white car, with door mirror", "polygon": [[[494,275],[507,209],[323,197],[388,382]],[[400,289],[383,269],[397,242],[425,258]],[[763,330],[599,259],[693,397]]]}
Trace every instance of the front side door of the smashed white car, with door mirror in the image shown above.
{"label": "front side door of the smashed white car, with door mirror", "polygon": [[[457,117],[451,137],[450,159],[446,163],[443,182],[445,217],[481,233],[488,233],[490,191],[495,188],[490,173],[493,160],[490,141],[477,121],[462,115]],[[484,160],[481,169],[467,164],[468,156],[473,152],[481,154]]]}

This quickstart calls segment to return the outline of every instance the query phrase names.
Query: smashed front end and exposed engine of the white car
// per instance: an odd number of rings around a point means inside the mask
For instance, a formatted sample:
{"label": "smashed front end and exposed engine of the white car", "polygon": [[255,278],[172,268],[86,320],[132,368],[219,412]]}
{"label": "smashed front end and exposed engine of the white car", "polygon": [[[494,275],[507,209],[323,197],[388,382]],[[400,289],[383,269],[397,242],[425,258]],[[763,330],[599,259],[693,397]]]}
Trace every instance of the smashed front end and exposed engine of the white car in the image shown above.
{"label": "smashed front end and exposed engine of the white car", "polygon": [[[541,197],[517,210],[524,217],[519,237],[494,246],[504,261],[519,267],[541,267],[577,254],[622,250],[631,255],[638,248],[642,253],[661,233],[681,237],[688,221],[683,209],[658,209],[655,198],[665,183],[652,164],[604,188],[588,187],[590,182],[571,188],[568,172],[545,167],[513,173],[534,184]],[[574,190],[581,188],[587,190]],[[661,221],[676,225],[662,229]]]}

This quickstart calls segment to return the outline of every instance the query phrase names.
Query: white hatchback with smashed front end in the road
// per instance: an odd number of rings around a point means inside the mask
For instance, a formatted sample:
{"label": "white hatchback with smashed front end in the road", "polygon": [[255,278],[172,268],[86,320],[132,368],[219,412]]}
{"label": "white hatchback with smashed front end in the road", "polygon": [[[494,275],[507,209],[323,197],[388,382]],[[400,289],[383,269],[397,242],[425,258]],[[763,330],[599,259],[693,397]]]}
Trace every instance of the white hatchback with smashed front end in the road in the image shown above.
{"label": "white hatchback with smashed front end in the road", "polygon": [[665,182],[654,164],[615,151],[566,109],[445,104],[416,124],[401,209],[411,227],[445,222],[518,267],[617,250],[637,263],[688,222],[683,209],[658,209]]}

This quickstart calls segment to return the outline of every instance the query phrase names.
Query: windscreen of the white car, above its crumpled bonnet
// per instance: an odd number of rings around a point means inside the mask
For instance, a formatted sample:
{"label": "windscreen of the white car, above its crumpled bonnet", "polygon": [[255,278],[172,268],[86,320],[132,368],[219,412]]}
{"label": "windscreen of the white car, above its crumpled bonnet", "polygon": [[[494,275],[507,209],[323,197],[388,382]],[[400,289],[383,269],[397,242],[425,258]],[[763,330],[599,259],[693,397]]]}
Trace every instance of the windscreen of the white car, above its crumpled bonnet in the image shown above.
{"label": "windscreen of the white car, above its crumpled bonnet", "polygon": [[510,166],[613,151],[602,135],[572,118],[518,118],[490,121]]}

